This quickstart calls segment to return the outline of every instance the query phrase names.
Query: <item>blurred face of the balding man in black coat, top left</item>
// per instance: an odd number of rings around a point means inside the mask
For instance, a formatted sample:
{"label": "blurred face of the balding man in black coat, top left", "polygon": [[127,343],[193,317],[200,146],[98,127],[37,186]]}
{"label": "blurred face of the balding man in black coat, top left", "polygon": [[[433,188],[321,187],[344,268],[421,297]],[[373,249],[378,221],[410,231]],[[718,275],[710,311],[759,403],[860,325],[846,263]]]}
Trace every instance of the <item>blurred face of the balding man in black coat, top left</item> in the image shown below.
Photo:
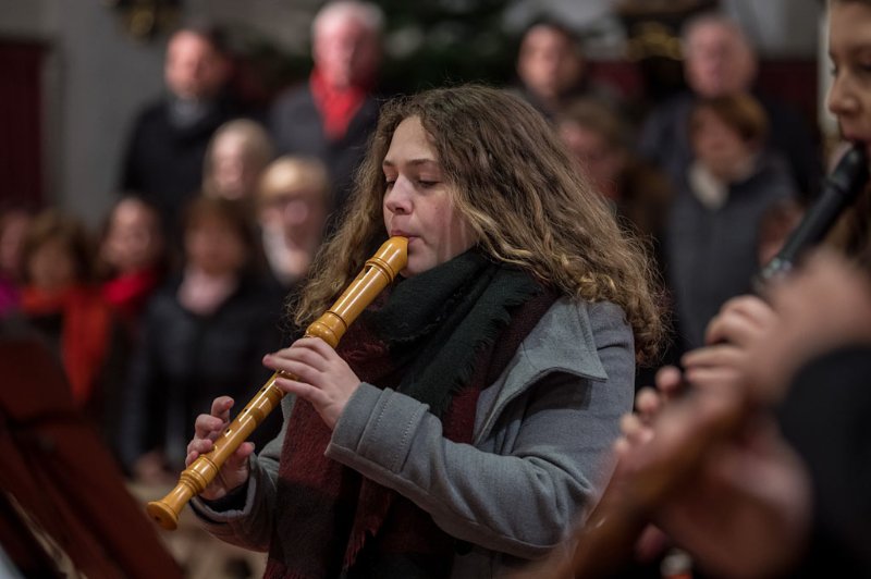
{"label": "blurred face of the balding man in black coat, top left", "polygon": [[167,46],[163,76],[170,91],[184,100],[216,96],[226,82],[226,59],[203,36],[182,30]]}

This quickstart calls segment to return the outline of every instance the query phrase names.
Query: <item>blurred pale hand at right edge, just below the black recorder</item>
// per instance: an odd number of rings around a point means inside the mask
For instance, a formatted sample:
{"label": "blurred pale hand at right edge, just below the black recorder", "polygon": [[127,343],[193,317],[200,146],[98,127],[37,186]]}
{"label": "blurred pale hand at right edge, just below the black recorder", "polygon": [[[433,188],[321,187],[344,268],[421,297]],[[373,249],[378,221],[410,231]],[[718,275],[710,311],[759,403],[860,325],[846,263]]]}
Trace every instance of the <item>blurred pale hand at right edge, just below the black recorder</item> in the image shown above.
{"label": "blurred pale hand at right edge, just below the black recorder", "polygon": [[801,365],[852,342],[871,342],[871,283],[831,251],[818,251],[768,292],[727,301],[711,321],[710,344],[684,359],[700,387],[741,389],[752,401],[778,401]]}

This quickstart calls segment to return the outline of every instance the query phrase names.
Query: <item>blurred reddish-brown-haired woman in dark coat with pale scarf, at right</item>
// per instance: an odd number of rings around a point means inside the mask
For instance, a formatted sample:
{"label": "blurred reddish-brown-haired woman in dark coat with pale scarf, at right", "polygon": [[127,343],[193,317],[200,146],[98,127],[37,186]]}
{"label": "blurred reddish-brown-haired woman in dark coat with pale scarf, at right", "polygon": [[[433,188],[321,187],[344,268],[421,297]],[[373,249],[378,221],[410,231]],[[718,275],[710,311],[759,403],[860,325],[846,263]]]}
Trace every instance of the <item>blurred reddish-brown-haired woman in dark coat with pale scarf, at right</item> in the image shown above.
{"label": "blurred reddish-brown-haired woman in dark coat with pale scarf, at right", "polygon": [[765,111],[749,95],[700,99],[689,116],[694,160],[665,233],[665,269],[685,348],[729,297],[750,291],[768,208],[795,196],[788,169],[764,148]]}

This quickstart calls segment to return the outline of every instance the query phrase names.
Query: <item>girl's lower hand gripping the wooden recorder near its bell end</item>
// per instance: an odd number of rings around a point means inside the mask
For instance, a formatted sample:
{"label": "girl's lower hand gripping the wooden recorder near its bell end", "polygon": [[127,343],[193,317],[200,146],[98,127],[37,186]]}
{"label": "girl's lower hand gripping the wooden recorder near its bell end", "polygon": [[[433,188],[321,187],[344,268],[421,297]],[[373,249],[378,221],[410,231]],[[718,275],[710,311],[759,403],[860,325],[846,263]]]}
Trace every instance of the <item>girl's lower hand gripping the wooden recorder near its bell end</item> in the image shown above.
{"label": "girl's lower hand gripping the wooden recorder near its bell end", "polygon": [[[201,454],[210,452],[214,441],[230,423],[230,409],[233,398],[220,396],[211,403],[211,414],[199,415],[194,423],[194,440],[187,445],[185,466],[197,459]],[[245,484],[250,473],[248,457],[254,452],[254,443],[245,442],[224,461],[218,476],[206,486],[199,495],[207,501],[223,497],[233,489]]]}

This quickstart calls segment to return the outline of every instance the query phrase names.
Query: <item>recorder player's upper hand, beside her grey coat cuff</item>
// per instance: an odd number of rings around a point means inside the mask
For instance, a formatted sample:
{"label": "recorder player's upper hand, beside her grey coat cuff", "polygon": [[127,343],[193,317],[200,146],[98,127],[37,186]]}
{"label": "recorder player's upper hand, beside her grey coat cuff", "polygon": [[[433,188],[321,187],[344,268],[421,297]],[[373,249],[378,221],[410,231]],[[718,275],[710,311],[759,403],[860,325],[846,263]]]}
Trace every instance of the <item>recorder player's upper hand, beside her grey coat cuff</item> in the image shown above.
{"label": "recorder player's upper hand, beside her grey coat cuff", "polygon": [[360,379],[336,352],[319,337],[303,337],[289,348],[263,357],[263,365],[281,370],[275,384],[308,401],[332,430]]}

